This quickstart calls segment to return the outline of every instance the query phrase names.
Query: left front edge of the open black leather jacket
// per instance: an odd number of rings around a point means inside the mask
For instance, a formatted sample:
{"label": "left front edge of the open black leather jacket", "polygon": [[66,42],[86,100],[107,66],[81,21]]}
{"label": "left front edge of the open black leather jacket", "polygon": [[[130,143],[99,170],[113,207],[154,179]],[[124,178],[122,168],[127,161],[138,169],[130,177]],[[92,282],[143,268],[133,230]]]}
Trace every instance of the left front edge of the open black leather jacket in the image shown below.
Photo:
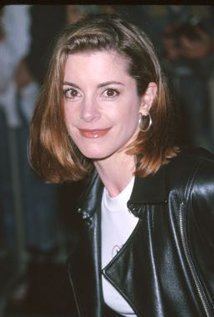
{"label": "left front edge of the open black leather jacket", "polygon": [[69,275],[81,317],[102,317],[100,201],[103,185],[94,174],[77,208],[83,223],[73,253]]}

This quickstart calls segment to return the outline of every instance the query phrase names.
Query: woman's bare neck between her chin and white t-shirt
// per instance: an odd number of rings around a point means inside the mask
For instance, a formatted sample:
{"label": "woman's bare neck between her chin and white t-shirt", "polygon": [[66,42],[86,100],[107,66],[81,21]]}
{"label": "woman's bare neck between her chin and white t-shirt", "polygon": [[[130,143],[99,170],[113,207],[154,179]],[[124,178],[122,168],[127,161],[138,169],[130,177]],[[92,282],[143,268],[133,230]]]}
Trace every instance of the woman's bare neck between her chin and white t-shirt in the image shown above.
{"label": "woman's bare neck between her chin and white t-shirt", "polygon": [[134,156],[117,153],[94,162],[95,168],[111,197],[117,196],[129,183],[135,171]]}

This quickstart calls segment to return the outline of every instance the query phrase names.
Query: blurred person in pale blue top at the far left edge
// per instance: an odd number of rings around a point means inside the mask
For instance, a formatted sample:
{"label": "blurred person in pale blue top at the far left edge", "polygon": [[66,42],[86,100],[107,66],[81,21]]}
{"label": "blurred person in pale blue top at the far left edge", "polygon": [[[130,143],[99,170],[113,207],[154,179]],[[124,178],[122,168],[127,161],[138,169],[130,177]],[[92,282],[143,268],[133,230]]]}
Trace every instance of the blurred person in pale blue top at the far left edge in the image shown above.
{"label": "blurred person in pale blue top at the far left edge", "polygon": [[18,164],[12,157],[11,137],[17,141],[22,128],[16,107],[15,72],[30,46],[29,8],[28,5],[3,6],[0,16],[0,205],[4,247],[9,252],[14,252],[16,248],[16,202],[12,172]]}

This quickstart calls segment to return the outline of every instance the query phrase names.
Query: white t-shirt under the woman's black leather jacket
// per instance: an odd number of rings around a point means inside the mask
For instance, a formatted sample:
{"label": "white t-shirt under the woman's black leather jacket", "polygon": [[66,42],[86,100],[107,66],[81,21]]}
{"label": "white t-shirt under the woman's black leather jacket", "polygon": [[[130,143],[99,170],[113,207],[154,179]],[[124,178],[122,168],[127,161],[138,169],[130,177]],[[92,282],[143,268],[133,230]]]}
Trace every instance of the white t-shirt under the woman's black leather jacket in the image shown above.
{"label": "white t-shirt under the woman's black leather jacket", "polygon": [[[104,188],[102,197],[102,268],[104,268],[117,254],[133,232],[138,218],[127,208],[127,201],[131,196],[134,186],[134,177],[124,190],[116,197],[110,197]],[[105,303],[118,314],[127,317],[135,317],[127,301],[102,276],[103,297]]]}

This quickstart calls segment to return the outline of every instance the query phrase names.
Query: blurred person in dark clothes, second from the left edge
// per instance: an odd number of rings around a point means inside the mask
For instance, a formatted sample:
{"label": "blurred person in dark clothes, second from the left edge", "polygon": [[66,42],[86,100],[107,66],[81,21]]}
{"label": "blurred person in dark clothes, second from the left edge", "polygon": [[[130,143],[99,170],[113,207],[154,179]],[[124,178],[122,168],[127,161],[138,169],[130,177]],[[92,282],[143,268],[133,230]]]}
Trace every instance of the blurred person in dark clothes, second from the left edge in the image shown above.
{"label": "blurred person in dark clothes, second from the left edge", "polygon": [[[24,6],[18,7],[21,9]],[[30,44],[13,74],[15,104],[21,125],[17,150],[27,265],[24,276],[10,294],[8,310],[34,312],[36,309],[47,310],[50,304],[49,297],[44,296],[47,289],[49,296],[52,295],[47,272],[51,272],[57,261],[61,242],[57,186],[41,182],[28,162],[29,122],[48,65],[49,49],[57,32],[65,25],[65,9],[63,6],[32,5],[28,19]],[[16,35],[17,38],[20,39],[20,36]]]}

